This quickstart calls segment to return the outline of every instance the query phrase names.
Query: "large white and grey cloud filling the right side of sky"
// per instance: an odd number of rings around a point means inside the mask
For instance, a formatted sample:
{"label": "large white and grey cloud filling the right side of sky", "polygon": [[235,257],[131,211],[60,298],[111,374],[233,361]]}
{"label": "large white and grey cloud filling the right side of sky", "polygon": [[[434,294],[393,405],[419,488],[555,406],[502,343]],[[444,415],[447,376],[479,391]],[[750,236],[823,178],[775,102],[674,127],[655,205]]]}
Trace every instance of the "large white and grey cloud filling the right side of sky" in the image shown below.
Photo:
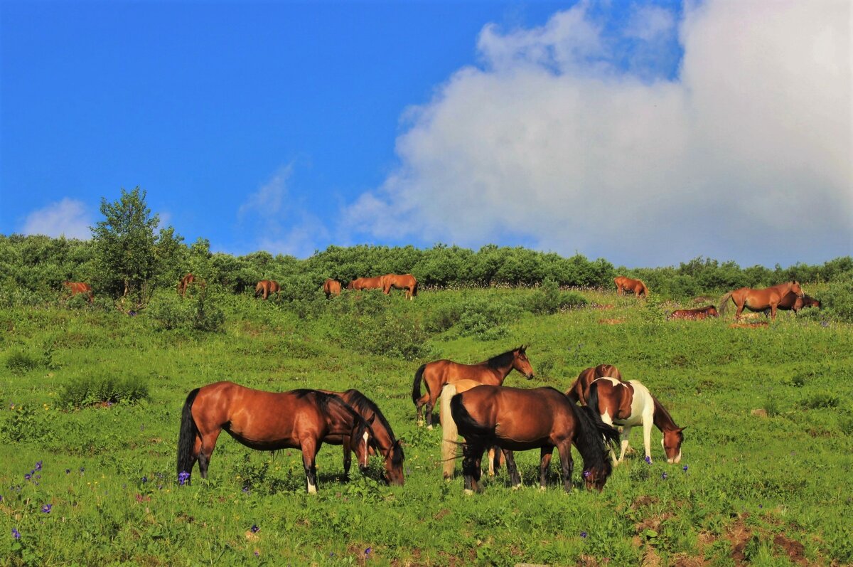
{"label": "large white and grey cloud filling the right side of sky", "polygon": [[[850,254],[849,23],[842,2],[711,1],[681,20],[640,7],[616,35],[584,3],[485,26],[481,63],[407,111],[399,166],[345,222],[629,266]],[[650,75],[676,33],[679,72]]]}

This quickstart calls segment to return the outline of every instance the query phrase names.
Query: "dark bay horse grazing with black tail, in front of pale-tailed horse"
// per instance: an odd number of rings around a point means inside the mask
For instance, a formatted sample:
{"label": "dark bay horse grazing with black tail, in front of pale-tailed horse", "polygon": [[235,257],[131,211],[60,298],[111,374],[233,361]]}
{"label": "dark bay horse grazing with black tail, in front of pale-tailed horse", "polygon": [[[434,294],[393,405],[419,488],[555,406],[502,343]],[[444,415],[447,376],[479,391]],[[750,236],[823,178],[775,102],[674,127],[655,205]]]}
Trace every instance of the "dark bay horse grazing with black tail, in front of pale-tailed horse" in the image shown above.
{"label": "dark bay horse grazing with black tail, in front of pale-tailed horse", "polygon": [[450,413],[465,438],[462,473],[466,492],[478,489],[483,451],[493,445],[501,447],[507,458],[507,471],[514,488],[520,486],[521,476],[513,452],[537,447],[541,456],[541,488],[546,486],[554,447],[560,453],[566,492],[572,490],[572,444],[583,457],[583,480],[587,488],[601,490],[612,472],[604,440],[615,443],[618,431],[604,424],[588,406],[575,406],[553,388],[478,386],[453,396]]}

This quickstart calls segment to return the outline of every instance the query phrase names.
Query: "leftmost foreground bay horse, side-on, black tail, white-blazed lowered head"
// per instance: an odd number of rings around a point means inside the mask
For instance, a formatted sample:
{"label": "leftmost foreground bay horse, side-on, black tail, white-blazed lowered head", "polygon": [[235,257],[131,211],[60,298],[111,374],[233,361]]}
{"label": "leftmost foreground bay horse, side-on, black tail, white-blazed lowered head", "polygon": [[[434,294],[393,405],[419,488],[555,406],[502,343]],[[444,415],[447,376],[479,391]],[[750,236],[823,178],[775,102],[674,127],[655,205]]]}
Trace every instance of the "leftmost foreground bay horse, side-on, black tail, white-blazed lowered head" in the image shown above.
{"label": "leftmost foreground bay horse, side-on, black tail, white-blazed lowered head", "polygon": [[189,483],[195,461],[207,478],[213,448],[225,430],[243,445],[259,451],[301,449],[308,494],[316,494],[316,454],[332,435],[349,439],[362,471],[368,466],[368,447],[373,442],[370,421],[358,415],[344,400],[317,390],[264,392],[233,382],[196,388],[183,404],[181,432],[177,441],[177,472]]}

